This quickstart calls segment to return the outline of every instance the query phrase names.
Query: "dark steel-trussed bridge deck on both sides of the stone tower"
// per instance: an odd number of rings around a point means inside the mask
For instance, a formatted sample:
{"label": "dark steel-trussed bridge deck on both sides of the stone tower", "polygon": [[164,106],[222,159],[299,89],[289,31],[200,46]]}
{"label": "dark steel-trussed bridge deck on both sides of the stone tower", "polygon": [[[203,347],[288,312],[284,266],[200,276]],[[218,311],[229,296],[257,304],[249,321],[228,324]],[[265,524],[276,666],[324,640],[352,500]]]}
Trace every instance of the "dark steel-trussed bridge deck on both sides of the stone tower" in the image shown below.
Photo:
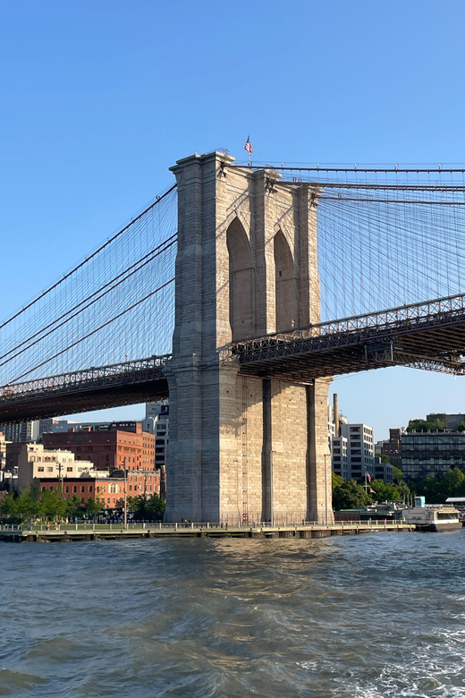
{"label": "dark steel-trussed bridge deck on both sides of the stone tower", "polygon": [[[235,342],[241,373],[289,381],[411,366],[465,374],[465,294]],[[0,387],[0,424],[168,396],[171,354]]]}

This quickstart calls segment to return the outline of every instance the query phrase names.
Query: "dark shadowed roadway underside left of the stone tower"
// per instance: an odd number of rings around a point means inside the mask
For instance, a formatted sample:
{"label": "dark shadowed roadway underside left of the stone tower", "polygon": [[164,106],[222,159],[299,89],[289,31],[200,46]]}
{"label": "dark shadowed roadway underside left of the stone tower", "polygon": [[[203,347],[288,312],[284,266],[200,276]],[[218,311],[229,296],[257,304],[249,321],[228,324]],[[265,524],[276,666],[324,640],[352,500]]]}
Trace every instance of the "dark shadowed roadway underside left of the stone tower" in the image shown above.
{"label": "dark shadowed roadway underside left of the stone tower", "polygon": [[112,385],[84,384],[42,390],[35,395],[16,396],[8,401],[0,401],[0,425],[105,410],[108,407],[163,400],[166,397],[168,381],[165,378],[137,383],[122,380]]}

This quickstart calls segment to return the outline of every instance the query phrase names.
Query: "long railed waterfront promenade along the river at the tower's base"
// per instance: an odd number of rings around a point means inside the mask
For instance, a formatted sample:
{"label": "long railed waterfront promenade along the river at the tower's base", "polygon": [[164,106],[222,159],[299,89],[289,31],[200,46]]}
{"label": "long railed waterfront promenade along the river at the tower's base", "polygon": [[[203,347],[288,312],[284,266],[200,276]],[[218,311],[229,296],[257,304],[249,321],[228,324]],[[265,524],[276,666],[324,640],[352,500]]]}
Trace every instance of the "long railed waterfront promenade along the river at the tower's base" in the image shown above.
{"label": "long railed waterfront promenade along the river at the tower's base", "polygon": [[336,524],[46,524],[2,525],[4,542],[114,541],[138,538],[329,538],[369,532],[410,532],[415,526],[403,521],[338,522]]}

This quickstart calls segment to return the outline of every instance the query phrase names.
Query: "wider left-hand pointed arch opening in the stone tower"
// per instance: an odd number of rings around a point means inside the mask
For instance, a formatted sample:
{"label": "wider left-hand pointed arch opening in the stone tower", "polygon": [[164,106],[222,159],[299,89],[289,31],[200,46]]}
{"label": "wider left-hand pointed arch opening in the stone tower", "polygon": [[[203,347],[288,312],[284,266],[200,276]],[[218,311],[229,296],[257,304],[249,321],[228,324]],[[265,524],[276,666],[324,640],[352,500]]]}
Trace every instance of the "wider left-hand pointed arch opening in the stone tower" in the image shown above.
{"label": "wider left-hand pointed arch opening in the stone tower", "polygon": [[250,243],[238,217],[226,233],[229,252],[229,321],[232,340],[254,334],[254,269]]}

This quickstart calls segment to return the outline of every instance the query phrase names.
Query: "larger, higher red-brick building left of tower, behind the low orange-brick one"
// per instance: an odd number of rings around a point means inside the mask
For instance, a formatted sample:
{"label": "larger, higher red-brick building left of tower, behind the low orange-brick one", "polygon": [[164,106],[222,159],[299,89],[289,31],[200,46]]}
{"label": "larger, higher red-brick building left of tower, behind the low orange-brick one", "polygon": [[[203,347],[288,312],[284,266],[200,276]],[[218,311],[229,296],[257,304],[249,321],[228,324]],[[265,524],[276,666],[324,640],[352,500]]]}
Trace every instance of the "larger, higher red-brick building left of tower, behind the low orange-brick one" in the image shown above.
{"label": "larger, higher red-brick building left of tower, behind the low orange-brick one", "polygon": [[46,433],[42,443],[47,448],[72,451],[76,460],[92,461],[98,470],[123,468],[155,470],[155,435],[142,430],[139,421],[114,422],[106,430],[75,430]]}

